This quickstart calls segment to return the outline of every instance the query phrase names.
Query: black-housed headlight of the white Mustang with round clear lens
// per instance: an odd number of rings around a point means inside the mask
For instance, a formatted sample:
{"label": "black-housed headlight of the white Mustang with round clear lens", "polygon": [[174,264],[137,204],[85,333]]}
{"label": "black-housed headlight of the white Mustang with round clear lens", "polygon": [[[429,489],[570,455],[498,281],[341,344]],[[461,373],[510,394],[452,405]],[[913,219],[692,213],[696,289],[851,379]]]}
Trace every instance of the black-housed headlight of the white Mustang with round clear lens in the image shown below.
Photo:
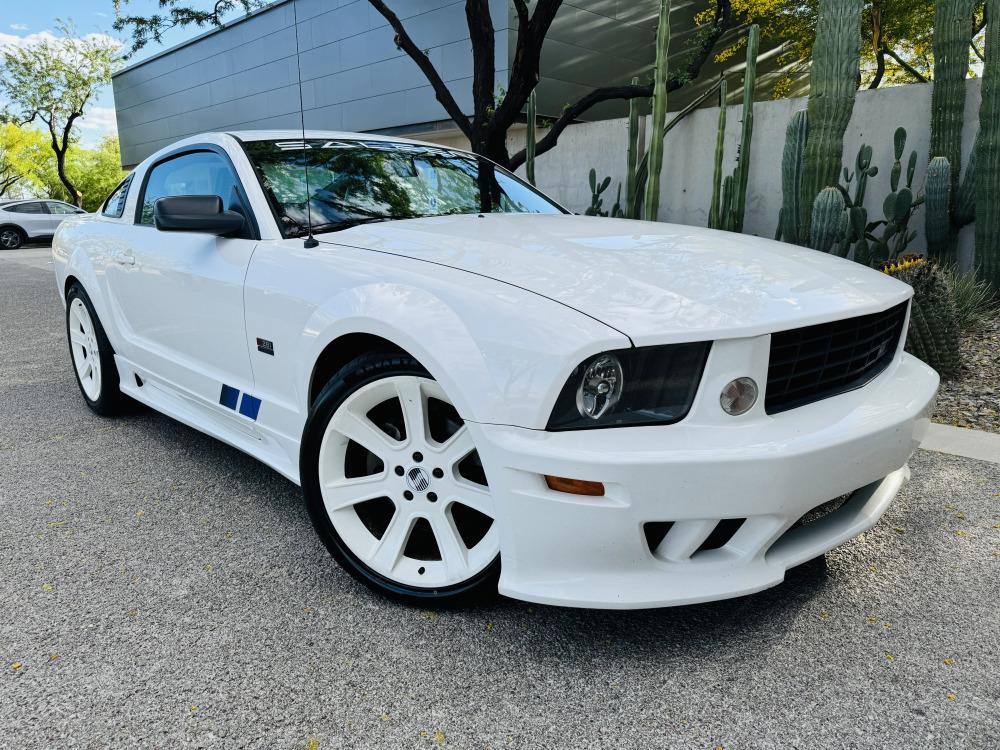
{"label": "black-housed headlight of the white Mustang with round clear lens", "polygon": [[697,342],[593,356],[569,376],[547,429],[678,422],[694,401],[709,348],[709,342]]}

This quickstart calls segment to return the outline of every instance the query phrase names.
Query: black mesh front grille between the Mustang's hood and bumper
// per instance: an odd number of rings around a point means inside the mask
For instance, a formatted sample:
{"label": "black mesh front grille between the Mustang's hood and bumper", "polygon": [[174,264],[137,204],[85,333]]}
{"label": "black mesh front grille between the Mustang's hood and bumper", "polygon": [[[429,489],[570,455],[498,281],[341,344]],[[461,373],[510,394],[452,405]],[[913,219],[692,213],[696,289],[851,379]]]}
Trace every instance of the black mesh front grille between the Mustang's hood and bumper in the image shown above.
{"label": "black mesh front grille between the Mustang's hood and bumper", "polygon": [[764,410],[795,409],[874,378],[896,353],[906,305],[773,334]]}

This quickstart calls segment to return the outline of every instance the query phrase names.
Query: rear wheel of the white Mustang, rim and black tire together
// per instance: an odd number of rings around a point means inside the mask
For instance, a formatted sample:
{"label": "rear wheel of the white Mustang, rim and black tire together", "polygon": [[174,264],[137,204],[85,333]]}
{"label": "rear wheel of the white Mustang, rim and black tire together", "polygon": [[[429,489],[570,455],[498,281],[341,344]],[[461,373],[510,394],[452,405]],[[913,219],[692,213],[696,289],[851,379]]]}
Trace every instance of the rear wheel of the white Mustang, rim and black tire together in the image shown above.
{"label": "rear wheel of the white Mustang, rim and black tire together", "polygon": [[66,338],[76,383],[90,410],[102,417],[124,412],[130,400],[119,389],[115,352],[79,284],[66,294]]}

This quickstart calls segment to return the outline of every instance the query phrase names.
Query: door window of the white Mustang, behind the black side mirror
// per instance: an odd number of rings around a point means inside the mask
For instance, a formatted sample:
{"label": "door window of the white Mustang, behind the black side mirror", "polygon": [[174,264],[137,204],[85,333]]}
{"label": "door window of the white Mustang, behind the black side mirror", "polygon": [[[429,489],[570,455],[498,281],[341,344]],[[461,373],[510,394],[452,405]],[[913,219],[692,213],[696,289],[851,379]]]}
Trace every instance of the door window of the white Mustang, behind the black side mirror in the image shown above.
{"label": "door window of the white Mustang, behind the black side mirror", "polygon": [[195,151],[153,167],[142,195],[139,224],[153,225],[153,204],[171,195],[217,195],[228,205],[236,187],[229,163],[213,151]]}

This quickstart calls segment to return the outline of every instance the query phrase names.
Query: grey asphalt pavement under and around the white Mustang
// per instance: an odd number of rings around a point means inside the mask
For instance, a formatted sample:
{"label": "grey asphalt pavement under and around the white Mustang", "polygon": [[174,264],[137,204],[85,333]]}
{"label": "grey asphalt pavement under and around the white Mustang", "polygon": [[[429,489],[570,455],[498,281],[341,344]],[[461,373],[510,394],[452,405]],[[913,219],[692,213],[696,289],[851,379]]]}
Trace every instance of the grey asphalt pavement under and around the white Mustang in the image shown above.
{"label": "grey asphalt pavement under and around the white Mustang", "polygon": [[873,530],[751,597],[420,611],[259,463],[88,412],[50,274],[0,254],[0,747],[1000,744],[1000,465],[918,453]]}

